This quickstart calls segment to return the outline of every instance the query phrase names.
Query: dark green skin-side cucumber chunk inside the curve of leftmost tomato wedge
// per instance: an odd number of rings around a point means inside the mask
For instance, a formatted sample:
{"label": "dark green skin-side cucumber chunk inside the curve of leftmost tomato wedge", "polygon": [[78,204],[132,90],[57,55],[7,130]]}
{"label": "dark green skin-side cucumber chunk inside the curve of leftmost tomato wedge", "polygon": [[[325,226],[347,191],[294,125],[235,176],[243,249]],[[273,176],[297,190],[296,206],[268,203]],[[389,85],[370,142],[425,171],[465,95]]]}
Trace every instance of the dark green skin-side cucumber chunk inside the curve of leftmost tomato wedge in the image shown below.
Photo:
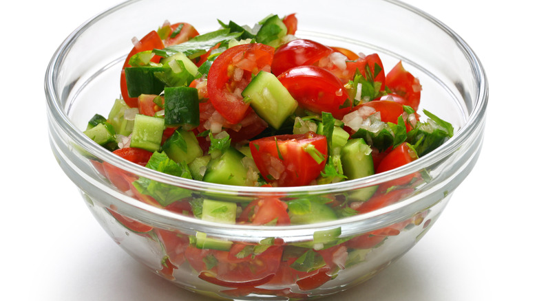
{"label": "dark green skin-side cucumber chunk inside the curve of leftmost tomato wedge", "polygon": [[155,74],[164,72],[162,67],[127,67],[125,68],[125,80],[127,80],[127,92],[129,97],[138,97],[140,94],[159,95],[164,90],[164,82]]}

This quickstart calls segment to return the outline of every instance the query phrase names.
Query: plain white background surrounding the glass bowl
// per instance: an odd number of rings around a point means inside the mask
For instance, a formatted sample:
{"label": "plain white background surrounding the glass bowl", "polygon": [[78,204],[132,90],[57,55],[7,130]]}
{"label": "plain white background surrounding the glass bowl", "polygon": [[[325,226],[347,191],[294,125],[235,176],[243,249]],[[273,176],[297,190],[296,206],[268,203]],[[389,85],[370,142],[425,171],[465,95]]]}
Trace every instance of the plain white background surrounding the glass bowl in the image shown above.
{"label": "plain white background surrounding the glass bowl", "polygon": [[[535,10],[523,0],[407,2],[459,33],[481,58],[490,88],[485,144],[416,247],[365,285],[326,300],[536,300]],[[3,4],[1,300],[204,300],[127,256],[50,150],[48,60],[72,30],[112,4]]]}

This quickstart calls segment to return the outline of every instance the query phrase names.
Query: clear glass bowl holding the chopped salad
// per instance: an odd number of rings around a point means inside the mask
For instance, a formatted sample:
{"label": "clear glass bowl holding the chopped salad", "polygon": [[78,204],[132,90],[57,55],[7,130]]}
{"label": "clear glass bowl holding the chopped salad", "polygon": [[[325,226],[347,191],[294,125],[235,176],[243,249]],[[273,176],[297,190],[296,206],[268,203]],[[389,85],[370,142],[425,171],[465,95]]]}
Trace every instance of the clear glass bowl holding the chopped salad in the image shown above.
{"label": "clear glass bowl holding the chopped salad", "polygon": [[[456,33],[416,8],[399,1],[338,3],[206,1],[211,10],[205,10],[192,1],[128,1],[67,37],[45,76],[50,144],[89,210],[130,256],[176,285],[207,296],[295,300],[327,296],[368,280],[430,229],[478,159],[488,96],[483,67]],[[454,137],[417,161],[378,175],[320,186],[254,188],[149,170],[83,134],[87,121],[95,113],[107,113],[120,95],[120,69],[133,36],[141,37],[165,20],[188,22],[204,33],[218,27],[217,19],[253,25],[268,14],[293,12],[299,20],[296,36],[376,52],[385,66],[402,60],[421,81],[421,107],[453,124]],[[182,189],[188,197],[176,203],[183,205],[196,198],[352,201],[357,190],[408,175],[426,175],[427,180],[399,194],[396,202],[365,214],[309,225],[252,226],[202,221],[181,214],[181,205],[156,206],[129,183],[114,186],[103,166],[132,181],[143,178]],[[217,247],[209,246],[213,243]]]}

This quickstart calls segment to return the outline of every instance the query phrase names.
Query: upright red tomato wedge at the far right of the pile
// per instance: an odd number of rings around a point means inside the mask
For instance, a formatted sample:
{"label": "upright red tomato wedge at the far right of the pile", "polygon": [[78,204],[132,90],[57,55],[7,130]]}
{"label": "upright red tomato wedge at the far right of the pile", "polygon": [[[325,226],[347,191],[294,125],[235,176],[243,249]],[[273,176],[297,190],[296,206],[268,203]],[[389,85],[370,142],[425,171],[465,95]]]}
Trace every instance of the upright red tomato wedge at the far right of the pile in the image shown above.
{"label": "upright red tomato wedge at the far right of the pile", "polygon": [[406,71],[401,60],[386,75],[386,87],[406,100],[403,104],[412,107],[414,111],[418,110],[421,85],[417,78]]}

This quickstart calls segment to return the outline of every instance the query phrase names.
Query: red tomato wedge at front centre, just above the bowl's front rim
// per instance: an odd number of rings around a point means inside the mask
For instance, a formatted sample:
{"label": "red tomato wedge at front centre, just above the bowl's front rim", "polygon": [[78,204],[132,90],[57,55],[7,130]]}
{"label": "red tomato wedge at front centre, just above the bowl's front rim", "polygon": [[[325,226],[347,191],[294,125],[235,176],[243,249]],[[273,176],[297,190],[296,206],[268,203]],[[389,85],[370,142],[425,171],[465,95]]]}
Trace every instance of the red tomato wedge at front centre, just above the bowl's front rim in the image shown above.
{"label": "red tomato wedge at front centre, just above the bowl's front rim", "polygon": [[[307,144],[315,146],[324,156],[320,164],[304,150]],[[261,175],[277,186],[308,185],[324,169],[328,154],[326,137],[313,132],[253,140],[250,150]]]}

